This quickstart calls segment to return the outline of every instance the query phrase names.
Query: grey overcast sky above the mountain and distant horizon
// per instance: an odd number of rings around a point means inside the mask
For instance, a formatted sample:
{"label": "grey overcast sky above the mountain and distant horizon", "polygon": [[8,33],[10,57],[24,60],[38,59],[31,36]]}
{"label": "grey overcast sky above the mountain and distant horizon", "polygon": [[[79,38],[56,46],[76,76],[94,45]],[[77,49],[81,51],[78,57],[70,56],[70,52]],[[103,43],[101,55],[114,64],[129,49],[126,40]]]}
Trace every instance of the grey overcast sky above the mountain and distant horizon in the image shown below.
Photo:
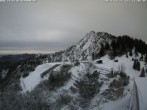
{"label": "grey overcast sky above the mountain and distant horizon", "polygon": [[147,42],[146,20],[147,1],[0,2],[0,54],[63,50],[90,31],[129,35]]}

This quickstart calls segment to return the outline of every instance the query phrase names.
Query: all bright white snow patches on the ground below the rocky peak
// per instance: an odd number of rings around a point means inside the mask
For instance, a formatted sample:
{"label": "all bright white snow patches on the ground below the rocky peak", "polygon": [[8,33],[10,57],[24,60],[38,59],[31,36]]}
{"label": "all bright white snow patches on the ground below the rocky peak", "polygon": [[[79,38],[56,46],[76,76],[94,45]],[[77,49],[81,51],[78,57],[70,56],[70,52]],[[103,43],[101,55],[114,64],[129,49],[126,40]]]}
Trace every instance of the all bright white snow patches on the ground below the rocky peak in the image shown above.
{"label": "all bright white snow patches on the ground below the rocky peak", "polygon": [[[139,58],[139,57],[138,57]],[[127,75],[130,76],[130,83],[128,86],[125,87],[124,90],[124,97],[119,98],[117,101],[109,101],[108,103],[101,104],[99,107],[96,106],[96,100],[99,98],[99,96],[96,96],[93,99],[93,102],[91,104],[91,110],[128,110],[129,109],[129,104],[130,104],[130,97],[131,97],[131,91],[133,89],[133,84],[134,84],[134,79],[139,77],[140,72],[134,70],[133,67],[133,61],[132,57],[126,58],[126,56],[121,56],[121,57],[116,57],[115,59],[118,60],[118,62],[114,62],[113,60],[110,60],[108,56],[104,56],[101,58],[103,60],[102,64],[95,64],[97,67],[102,67],[102,68],[107,68],[107,69],[112,69],[114,68],[115,71],[119,70],[120,65],[124,65],[125,72]],[[96,62],[96,61],[94,61]],[[144,67],[144,62],[141,63],[141,69]],[[55,64],[62,64],[60,63],[46,63],[39,65],[35,71],[31,72],[30,75],[24,79],[21,78],[21,86],[23,88],[23,91],[31,91],[33,88],[39,84],[39,82],[42,80],[40,77],[40,74],[50,67],[52,67]],[[85,69],[85,63],[81,62],[79,66],[73,67],[70,71],[72,73],[72,78],[67,82],[67,84],[59,89],[61,91],[62,89],[69,90],[71,86],[73,86],[74,80],[76,78],[80,78],[81,71]],[[56,68],[56,70],[59,70],[59,67]],[[104,77],[104,76],[101,76]],[[140,104],[143,105],[144,108],[141,108],[140,110],[147,110],[145,108],[147,105],[147,90],[144,89],[143,84],[147,83],[147,78],[138,78],[136,79],[138,91],[139,91],[139,98],[140,98]],[[108,88],[108,85],[105,84],[102,86],[101,91],[104,91],[105,89]],[[144,91],[145,90],[145,91]],[[93,106],[93,107],[92,107]]]}

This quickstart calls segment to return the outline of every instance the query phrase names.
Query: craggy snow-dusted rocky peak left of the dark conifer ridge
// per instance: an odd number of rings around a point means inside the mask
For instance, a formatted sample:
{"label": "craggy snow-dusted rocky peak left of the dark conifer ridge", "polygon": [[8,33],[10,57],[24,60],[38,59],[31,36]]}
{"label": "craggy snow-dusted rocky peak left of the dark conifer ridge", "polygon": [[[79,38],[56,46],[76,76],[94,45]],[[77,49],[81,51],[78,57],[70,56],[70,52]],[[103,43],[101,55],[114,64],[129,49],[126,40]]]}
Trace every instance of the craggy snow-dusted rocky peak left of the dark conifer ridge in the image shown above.
{"label": "craggy snow-dusted rocky peak left of the dark conifer ridge", "polygon": [[49,55],[49,59],[50,61],[90,60],[92,54],[98,54],[102,46],[105,47],[106,44],[111,44],[113,39],[115,37],[111,34],[91,31],[76,45]]}

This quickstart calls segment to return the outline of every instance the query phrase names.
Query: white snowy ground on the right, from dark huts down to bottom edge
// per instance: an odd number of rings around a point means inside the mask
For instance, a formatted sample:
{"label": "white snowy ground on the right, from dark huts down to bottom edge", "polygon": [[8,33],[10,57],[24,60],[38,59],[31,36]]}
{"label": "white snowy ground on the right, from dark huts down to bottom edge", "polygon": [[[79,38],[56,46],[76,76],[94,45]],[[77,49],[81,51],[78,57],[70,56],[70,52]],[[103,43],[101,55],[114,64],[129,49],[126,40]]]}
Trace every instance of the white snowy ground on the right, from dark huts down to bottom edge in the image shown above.
{"label": "white snowy ground on the right, from dark huts down to bottom edge", "polygon": [[[139,58],[139,57],[138,57]],[[134,70],[133,67],[133,61],[132,61],[132,57],[126,58],[126,56],[122,56],[122,57],[116,57],[115,59],[118,60],[118,62],[114,62],[113,60],[110,60],[108,58],[108,56],[104,56],[101,58],[101,60],[103,60],[103,64],[97,64],[97,66],[99,67],[103,67],[103,68],[109,68],[112,69],[114,68],[114,70],[118,71],[119,70],[119,66],[120,65],[124,65],[125,67],[125,72],[127,73],[127,75],[130,76],[130,83],[128,86],[125,87],[125,91],[124,94],[126,94],[125,97],[118,99],[117,101],[114,102],[109,102],[109,103],[105,103],[104,105],[101,105],[100,109],[101,110],[129,110],[129,106],[130,106],[130,98],[131,98],[131,92],[133,89],[133,84],[134,84],[134,79],[137,78],[137,82],[138,82],[138,86],[139,87],[139,98],[140,98],[140,102],[142,103],[142,107],[147,107],[147,96],[145,93],[147,93],[147,89],[144,91],[144,86],[141,86],[145,83],[147,83],[147,78],[139,78],[140,72]],[[144,62],[140,62],[141,64],[141,69],[142,67],[144,67]],[[140,79],[138,81],[138,79]],[[144,80],[142,82],[142,80]],[[142,91],[141,91],[142,90]],[[144,93],[144,94],[143,94]],[[140,96],[141,95],[141,96]],[[142,98],[142,96],[144,98]],[[97,110],[96,108],[93,110]],[[140,110],[147,110],[147,108],[143,108]]]}

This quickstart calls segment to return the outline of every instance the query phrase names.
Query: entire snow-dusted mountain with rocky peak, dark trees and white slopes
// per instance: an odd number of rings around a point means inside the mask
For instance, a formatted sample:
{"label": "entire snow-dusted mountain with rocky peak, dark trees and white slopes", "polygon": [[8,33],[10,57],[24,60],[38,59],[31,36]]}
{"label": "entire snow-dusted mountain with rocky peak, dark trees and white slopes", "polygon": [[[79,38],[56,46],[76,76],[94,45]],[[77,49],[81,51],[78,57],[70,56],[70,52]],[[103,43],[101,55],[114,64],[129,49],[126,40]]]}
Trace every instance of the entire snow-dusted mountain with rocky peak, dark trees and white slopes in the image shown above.
{"label": "entire snow-dusted mountain with rocky peak, dark trees and white slopes", "polygon": [[63,51],[20,64],[8,79],[0,107],[5,103],[5,110],[146,110],[142,94],[147,89],[140,86],[142,79],[147,82],[146,47],[126,35],[91,31]]}

